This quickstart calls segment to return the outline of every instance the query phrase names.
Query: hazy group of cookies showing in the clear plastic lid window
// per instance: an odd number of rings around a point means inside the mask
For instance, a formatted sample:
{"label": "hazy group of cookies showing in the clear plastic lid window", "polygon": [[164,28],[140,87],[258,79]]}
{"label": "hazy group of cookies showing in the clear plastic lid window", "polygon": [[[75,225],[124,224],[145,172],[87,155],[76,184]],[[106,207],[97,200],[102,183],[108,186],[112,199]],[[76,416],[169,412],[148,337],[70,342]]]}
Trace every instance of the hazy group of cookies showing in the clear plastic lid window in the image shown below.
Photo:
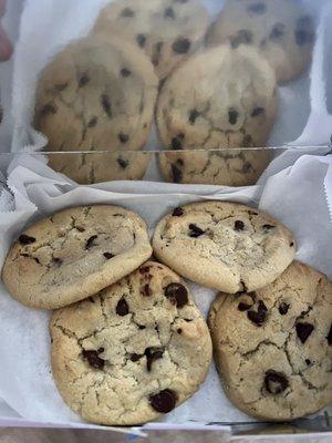
{"label": "hazy group of cookies showing in the clear plastic lid window", "polygon": [[48,151],[81,152],[50,156],[79,183],[141,179],[155,115],[166,181],[251,185],[278,83],[308,68],[313,41],[294,0],[228,0],[212,23],[199,0],[116,0],[41,73],[34,126]]}

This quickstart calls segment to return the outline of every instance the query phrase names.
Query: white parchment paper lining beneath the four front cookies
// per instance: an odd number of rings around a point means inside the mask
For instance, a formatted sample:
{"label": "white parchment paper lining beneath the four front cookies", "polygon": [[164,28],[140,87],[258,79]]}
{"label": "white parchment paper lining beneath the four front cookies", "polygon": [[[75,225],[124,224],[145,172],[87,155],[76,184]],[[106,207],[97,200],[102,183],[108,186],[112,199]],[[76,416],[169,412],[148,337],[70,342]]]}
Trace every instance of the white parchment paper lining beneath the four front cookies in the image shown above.
{"label": "white parchment paper lining beneath the four front cookies", "polygon": [[[115,204],[141,214],[151,231],[175,206],[203,199],[227,199],[258,205],[289,226],[298,243],[297,258],[332,278],[332,223],[324,182],[332,186],[332,156],[302,156],[292,167],[270,177],[264,187],[166,185],[114,182],[77,186],[45,164],[20,155],[10,167],[8,186],[13,202],[6,208],[0,197],[2,266],[11,241],[25,223],[82,204]],[[329,179],[330,177],[330,179]],[[330,200],[330,204],[332,200]],[[215,293],[190,284],[206,315]],[[25,308],[0,287],[0,398],[20,416],[39,423],[75,425],[81,422],[62,402],[50,368],[49,313]],[[189,401],[165,418],[167,423],[248,422],[253,419],[234,408],[224,394],[214,364]]]}

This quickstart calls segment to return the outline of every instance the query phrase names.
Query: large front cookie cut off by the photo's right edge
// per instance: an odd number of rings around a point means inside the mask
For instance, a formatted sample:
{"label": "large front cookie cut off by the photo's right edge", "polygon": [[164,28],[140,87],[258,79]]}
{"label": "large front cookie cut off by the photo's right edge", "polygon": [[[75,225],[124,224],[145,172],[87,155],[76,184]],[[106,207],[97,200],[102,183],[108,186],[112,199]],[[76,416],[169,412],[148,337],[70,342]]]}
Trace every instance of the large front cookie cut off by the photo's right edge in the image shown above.
{"label": "large front cookie cut off by the photo's right edge", "polygon": [[261,420],[287,421],[332,402],[332,284],[293,261],[266,288],[220,295],[209,327],[229,399]]}

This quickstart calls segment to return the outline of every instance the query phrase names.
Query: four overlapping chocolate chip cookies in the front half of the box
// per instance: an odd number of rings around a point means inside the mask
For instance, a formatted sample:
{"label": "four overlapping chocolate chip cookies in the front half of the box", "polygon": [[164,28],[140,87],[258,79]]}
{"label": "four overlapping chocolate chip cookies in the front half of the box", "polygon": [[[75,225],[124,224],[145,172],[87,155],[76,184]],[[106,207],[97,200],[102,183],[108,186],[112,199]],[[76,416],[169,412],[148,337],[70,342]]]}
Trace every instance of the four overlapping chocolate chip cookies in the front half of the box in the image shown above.
{"label": "four overlapping chocolate chip cookies in the front half of the box", "polygon": [[[152,245],[137,214],[85,206],[37,223],[8,254],[9,292],[54,309],[52,371],[74,412],[108,425],[160,418],[199,389],[212,346],[226,394],[252,416],[293,420],[332,402],[332,282],[293,261],[287,227],[195,203],[162,218]],[[220,291],[209,329],[180,276]]]}

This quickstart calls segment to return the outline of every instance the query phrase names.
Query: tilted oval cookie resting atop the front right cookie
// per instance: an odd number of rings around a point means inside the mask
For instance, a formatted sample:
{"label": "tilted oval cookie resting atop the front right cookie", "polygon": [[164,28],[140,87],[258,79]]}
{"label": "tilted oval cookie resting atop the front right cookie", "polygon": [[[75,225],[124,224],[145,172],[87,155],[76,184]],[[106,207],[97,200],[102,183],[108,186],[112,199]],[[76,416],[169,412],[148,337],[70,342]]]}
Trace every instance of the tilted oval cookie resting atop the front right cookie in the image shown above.
{"label": "tilted oval cookie resting atop the front right cookie", "polygon": [[153,248],[179,275],[228,293],[272,282],[295,254],[292,234],[281,223],[228,202],[175,208],[158,223]]}

